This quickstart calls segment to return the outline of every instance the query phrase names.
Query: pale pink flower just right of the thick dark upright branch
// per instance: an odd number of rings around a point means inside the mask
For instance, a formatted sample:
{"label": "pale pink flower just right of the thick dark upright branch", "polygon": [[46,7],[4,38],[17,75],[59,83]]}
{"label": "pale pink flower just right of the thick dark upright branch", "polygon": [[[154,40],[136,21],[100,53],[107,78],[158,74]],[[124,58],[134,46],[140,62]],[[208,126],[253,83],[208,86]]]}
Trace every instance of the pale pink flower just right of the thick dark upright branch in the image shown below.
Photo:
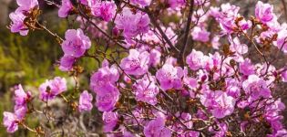
{"label": "pale pink flower just right of the thick dark upright branch", "polygon": [[192,70],[198,70],[202,67],[204,55],[201,51],[196,51],[192,49],[190,55],[187,57],[187,64],[190,66]]}

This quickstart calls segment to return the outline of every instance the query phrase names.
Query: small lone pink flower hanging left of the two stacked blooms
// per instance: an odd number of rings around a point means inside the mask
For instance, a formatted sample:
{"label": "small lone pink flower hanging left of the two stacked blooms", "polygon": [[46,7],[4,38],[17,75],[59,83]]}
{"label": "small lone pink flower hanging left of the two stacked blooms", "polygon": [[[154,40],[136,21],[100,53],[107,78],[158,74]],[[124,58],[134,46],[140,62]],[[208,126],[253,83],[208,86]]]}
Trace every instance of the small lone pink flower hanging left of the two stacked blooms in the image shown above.
{"label": "small lone pink flower hanging left of the two stacked blooms", "polygon": [[81,93],[78,101],[78,111],[91,111],[93,109],[93,104],[91,102],[92,100],[92,94],[88,93],[87,90],[84,90]]}

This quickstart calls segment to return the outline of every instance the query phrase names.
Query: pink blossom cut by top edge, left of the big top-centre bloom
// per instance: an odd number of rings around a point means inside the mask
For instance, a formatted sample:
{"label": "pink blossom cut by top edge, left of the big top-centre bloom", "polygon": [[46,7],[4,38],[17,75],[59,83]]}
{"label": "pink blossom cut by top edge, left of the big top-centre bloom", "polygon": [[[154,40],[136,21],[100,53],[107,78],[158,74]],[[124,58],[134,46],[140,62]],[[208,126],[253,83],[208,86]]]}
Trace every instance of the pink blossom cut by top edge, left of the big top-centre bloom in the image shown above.
{"label": "pink blossom cut by top edge, left of the big top-centre bloom", "polygon": [[116,15],[117,5],[113,2],[96,1],[91,6],[93,16],[100,16],[105,21],[110,21]]}

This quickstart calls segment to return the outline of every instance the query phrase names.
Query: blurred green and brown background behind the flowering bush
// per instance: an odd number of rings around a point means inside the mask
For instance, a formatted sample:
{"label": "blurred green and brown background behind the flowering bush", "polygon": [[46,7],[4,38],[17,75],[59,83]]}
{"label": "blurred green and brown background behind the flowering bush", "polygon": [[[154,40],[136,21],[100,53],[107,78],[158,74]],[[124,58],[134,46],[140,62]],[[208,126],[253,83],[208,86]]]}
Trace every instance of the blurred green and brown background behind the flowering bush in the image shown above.
{"label": "blurred green and brown background behind the flowering bush", "polygon": [[[59,3],[60,0],[55,0]],[[268,2],[268,0],[262,0]],[[254,5],[257,0],[222,0],[220,3],[231,2],[241,6],[241,15],[253,15]],[[269,0],[274,4],[276,15],[280,16],[281,22],[286,21],[286,7],[284,0]],[[44,0],[39,0],[40,9],[44,14],[39,20],[43,24],[63,37],[67,28],[77,28],[77,24],[70,24],[67,19],[57,17],[57,9],[53,5],[46,5]],[[58,59],[63,56],[62,50],[56,40],[48,36],[45,32],[30,31],[26,37],[13,34],[7,28],[9,25],[8,15],[16,8],[15,0],[0,0],[0,120],[3,119],[3,111],[13,111],[12,94],[16,84],[21,83],[25,89],[36,92],[36,87],[45,79],[52,79],[55,76],[67,78],[67,73],[57,69]],[[256,58],[253,58],[256,60]],[[86,59],[82,62],[87,72],[92,72],[97,68],[95,60]],[[286,64],[286,57],[282,55],[278,66]],[[87,87],[89,73],[83,75],[87,79],[82,85]],[[83,81],[83,80],[82,80]],[[85,85],[86,84],[86,85]],[[285,86],[286,87],[286,86]],[[31,127],[36,127],[36,119],[26,120]],[[34,136],[25,130],[19,130],[14,136]],[[0,137],[13,136],[5,132],[3,125],[0,125]]]}

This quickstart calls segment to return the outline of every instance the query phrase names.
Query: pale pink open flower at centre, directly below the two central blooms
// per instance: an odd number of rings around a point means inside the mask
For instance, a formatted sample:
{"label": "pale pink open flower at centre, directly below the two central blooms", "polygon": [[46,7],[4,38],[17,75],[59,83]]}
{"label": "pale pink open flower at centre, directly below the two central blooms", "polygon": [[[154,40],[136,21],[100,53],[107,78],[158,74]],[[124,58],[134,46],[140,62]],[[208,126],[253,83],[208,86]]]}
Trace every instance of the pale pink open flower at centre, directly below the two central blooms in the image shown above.
{"label": "pale pink open flower at centre, directly below the two central blooms", "polygon": [[143,79],[137,80],[134,84],[136,100],[147,102],[151,105],[156,105],[159,87],[155,83],[155,78],[151,76],[144,76]]}

